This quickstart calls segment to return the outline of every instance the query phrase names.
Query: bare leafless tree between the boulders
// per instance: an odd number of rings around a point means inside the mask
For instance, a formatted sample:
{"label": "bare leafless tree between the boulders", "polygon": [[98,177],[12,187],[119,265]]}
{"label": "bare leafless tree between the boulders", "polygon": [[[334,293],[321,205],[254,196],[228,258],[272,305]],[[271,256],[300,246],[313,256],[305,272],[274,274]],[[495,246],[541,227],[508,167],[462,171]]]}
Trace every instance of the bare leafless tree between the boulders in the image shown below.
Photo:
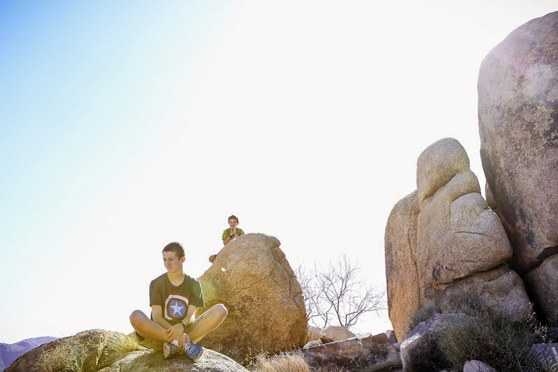
{"label": "bare leafless tree between the boulders", "polygon": [[343,254],[327,269],[306,271],[302,265],[295,274],[301,284],[308,322],[317,327],[340,325],[349,329],[365,313],[378,313],[385,307],[385,292],[359,279],[360,269]]}

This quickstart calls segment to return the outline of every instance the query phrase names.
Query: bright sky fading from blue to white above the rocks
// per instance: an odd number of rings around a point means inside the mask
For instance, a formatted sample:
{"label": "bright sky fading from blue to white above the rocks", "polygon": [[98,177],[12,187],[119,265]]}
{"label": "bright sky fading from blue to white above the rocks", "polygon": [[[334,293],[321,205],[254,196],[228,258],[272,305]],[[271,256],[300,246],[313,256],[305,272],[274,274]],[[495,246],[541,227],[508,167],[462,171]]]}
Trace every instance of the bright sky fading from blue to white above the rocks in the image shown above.
{"label": "bright sky fading from blue to white above the rocks", "polygon": [[[0,342],[132,332],[161,250],[209,268],[227,216],[292,267],[384,290],[416,160],[454,137],[484,185],[486,54],[555,1],[0,2]],[[393,329],[387,311],[355,332]]]}

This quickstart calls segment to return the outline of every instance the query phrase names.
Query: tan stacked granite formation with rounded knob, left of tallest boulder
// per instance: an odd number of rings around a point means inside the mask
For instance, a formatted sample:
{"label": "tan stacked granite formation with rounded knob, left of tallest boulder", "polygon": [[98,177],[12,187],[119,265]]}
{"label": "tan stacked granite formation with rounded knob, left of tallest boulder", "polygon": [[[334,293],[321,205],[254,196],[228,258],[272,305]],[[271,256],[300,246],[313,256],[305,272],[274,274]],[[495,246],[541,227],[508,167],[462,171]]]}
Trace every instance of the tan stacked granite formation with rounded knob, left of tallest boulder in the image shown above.
{"label": "tan stacked granite formation with rounded knob, left of tallest boulder", "polygon": [[416,179],[417,190],[393,208],[384,239],[397,338],[405,338],[418,308],[444,308],[456,296],[474,295],[518,320],[528,315],[520,277],[502,266],[512,255],[506,232],[482,198],[461,144],[445,138],[430,145],[418,158]]}

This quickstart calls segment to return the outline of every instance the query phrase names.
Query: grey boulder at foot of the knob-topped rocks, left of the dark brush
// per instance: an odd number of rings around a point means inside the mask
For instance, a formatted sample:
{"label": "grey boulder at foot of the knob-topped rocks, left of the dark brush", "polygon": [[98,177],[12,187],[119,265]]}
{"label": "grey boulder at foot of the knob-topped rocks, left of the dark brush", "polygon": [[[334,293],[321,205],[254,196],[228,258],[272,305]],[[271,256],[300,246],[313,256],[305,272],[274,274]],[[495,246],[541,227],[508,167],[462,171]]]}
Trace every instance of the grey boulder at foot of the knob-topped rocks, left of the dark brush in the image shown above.
{"label": "grey boulder at foot of the knob-topped rocks, left of the dark brush", "polygon": [[460,327],[474,318],[465,314],[435,314],[418,323],[400,345],[403,369],[407,372],[439,371],[451,365],[439,346],[446,327]]}

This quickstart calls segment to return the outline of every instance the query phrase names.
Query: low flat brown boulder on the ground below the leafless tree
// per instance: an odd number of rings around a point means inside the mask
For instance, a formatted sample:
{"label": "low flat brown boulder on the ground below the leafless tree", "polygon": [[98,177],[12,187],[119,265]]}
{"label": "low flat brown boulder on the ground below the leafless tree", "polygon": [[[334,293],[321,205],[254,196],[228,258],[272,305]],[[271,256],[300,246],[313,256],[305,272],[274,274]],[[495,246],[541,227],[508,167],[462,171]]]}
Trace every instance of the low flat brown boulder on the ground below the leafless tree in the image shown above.
{"label": "low flat brown boulder on the ground below the leafless tree", "polygon": [[318,370],[374,372],[401,366],[401,359],[385,334],[365,334],[304,348],[301,352],[306,363]]}

